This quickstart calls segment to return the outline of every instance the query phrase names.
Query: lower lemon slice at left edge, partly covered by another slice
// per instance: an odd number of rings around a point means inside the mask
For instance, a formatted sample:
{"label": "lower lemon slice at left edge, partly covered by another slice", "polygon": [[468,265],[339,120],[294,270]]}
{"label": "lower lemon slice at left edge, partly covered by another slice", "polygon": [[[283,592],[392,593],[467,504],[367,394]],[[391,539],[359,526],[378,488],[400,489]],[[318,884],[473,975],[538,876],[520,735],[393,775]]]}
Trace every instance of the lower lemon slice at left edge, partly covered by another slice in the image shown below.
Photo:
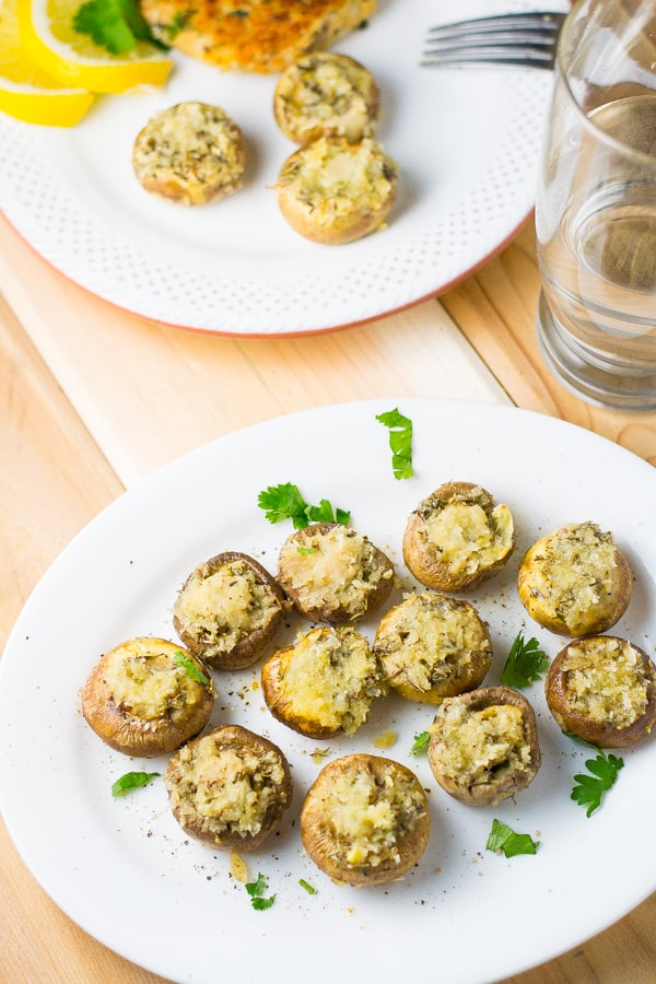
{"label": "lower lemon slice at left edge, partly covered by another slice", "polygon": [[82,89],[62,89],[27,58],[21,46],[16,0],[0,0],[0,109],[24,122],[72,127],[93,99]]}

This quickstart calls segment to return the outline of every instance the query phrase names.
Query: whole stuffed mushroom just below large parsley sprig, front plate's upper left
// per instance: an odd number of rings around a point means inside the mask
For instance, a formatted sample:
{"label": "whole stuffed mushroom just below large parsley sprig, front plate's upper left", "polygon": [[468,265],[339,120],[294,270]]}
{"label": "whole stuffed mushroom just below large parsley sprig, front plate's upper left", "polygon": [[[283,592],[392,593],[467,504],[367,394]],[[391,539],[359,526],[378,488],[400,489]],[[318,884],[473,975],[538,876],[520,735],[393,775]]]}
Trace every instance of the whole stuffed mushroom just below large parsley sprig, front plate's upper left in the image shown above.
{"label": "whole stuffed mushroom just below large parsley sprig, front plate's upper left", "polygon": [[278,582],[306,619],[344,625],[387,600],[394,564],[371,540],[338,523],[315,523],[282,546]]}

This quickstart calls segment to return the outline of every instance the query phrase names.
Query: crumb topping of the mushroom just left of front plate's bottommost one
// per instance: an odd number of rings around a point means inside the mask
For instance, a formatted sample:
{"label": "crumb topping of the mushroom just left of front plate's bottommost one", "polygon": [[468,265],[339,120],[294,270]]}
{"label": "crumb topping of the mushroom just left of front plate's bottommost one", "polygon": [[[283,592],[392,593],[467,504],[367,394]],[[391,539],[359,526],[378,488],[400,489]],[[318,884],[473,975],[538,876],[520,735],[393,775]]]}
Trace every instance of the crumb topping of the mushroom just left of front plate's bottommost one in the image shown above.
{"label": "crumb topping of the mushroom just left of front plate's bottommost one", "polygon": [[284,769],[273,750],[222,746],[207,735],[183,748],[176,762],[169,794],[183,825],[200,820],[216,835],[254,835],[279,801]]}

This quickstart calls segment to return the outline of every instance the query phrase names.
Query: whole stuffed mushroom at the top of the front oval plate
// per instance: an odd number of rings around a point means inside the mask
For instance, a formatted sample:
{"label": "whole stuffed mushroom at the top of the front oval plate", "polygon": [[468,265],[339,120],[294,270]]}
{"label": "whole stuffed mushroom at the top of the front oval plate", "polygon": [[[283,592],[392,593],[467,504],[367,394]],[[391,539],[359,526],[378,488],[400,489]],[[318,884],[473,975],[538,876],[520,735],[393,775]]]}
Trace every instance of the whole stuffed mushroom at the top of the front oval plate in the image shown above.
{"label": "whole stuffed mushroom at the top of the front oval plate", "polygon": [[509,559],[515,549],[513,517],[481,485],[447,482],[410,514],[402,549],[420,584],[452,594],[470,590]]}

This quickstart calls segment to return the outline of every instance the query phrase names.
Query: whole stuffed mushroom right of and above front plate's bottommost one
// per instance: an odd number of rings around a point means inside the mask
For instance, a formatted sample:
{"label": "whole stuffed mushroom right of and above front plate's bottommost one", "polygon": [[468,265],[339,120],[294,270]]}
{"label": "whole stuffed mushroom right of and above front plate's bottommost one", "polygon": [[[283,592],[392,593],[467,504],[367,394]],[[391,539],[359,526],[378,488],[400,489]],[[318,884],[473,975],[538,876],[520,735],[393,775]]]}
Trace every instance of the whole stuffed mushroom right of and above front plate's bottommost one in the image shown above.
{"label": "whole stuffed mushroom right of and above front plate's bottommost one", "polygon": [[429,730],[433,775],[468,806],[490,806],[514,796],[532,782],[541,764],[535,712],[509,687],[482,687],[447,698]]}

